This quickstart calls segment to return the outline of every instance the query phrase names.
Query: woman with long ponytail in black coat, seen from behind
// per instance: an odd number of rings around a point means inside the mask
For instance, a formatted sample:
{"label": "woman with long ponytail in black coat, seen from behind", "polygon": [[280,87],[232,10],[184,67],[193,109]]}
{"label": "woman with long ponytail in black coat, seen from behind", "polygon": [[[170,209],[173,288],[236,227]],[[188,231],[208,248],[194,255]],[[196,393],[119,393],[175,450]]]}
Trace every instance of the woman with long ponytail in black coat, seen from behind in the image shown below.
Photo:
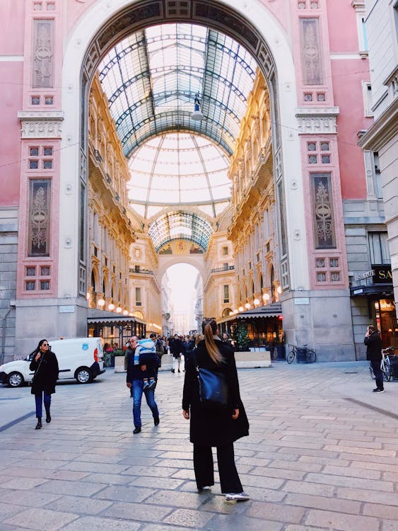
{"label": "woman with long ponytail in black coat, seen from behind", "polygon": [[[217,448],[218,472],[221,492],[226,501],[245,501],[235,466],[233,442],[249,435],[249,422],[240,399],[238,372],[233,348],[218,337],[215,319],[205,319],[202,324],[204,340],[199,341],[185,362],[185,382],[182,396],[182,414],[191,419],[189,438],[194,444],[194,472],[199,491],[208,491],[214,484],[213,454]],[[212,372],[222,372],[228,384],[228,406],[211,410],[201,404],[197,365]]]}

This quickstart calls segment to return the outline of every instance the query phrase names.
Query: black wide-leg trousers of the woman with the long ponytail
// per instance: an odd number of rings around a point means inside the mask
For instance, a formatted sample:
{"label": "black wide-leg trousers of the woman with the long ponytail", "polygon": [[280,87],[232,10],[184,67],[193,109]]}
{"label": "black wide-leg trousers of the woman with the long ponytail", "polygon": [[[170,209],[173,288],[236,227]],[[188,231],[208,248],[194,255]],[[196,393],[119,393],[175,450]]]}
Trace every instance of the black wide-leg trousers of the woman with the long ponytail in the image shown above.
{"label": "black wide-leg trousers of the woman with the long ponytail", "polygon": [[[228,445],[217,446],[218,474],[220,475],[221,492],[242,492],[242,484],[235,466],[233,442]],[[214,464],[211,446],[194,443],[194,471],[197,487],[214,484]]]}

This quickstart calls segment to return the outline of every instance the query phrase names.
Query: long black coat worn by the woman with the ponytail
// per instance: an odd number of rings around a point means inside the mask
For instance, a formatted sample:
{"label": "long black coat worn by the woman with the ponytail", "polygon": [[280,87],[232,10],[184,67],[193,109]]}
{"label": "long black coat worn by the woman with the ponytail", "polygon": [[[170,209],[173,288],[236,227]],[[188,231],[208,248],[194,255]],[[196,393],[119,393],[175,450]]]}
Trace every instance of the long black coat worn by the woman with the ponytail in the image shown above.
{"label": "long black coat worn by the woman with the ponytail", "polygon": [[[233,348],[216,341],[225,363],[217,365],[209,357],[204,341],[200,341],[191,355],[185,359],[185,382],[182,409],[190,410],[189,440],[199,445],[223,446],[249,435],[249,421],[240,399],[238,372]],[[199,367],[223,372],[228,382],[228,406],[226,409],[209,411],[201,405],[195,360]],[[239,416],[232,418],[233,409],[239,408]]]}

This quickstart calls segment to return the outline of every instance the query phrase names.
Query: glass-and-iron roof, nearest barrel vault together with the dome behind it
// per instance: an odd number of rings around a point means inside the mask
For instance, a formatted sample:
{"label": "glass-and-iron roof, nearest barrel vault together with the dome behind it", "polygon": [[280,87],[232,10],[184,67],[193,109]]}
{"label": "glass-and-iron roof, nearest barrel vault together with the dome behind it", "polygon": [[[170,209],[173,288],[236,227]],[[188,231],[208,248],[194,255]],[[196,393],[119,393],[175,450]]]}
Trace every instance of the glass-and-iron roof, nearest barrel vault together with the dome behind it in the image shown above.
{"label": "glass-and-iron roof, nearest barrel vault together with the dome behind it", "polygon": [[[194,204],[216,217],[257,64],[218,31],[173,23],[119,42],[99,67],[124,155],[131,206],[144,218]],[[195,98],[203,120],[192,120]],[[171,238],[171,236],[170,236]]]}

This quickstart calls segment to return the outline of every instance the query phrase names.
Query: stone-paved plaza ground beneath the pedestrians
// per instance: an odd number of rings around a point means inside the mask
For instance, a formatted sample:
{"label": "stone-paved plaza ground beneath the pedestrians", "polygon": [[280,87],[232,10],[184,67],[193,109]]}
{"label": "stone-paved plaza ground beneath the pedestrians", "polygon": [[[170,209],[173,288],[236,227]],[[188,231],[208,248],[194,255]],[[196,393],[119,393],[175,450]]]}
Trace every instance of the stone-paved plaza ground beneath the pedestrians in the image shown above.
{"label": "stone-paved plaza ground beneath the pedestrians", "polygon": [[[108,370],[60,384],[42,430],[34,414],[3,426],[0,530],[398,530],[398,380],[373,396],[363,362],[239,377],[250,436],[235,455],[250,501],[226,503],[218,483],[197,493],[183,373],[160,375],[160,426],[143,403],[133,435],[125,376]],[[31,413],[30,389],[1,388],[0,408]]]}

